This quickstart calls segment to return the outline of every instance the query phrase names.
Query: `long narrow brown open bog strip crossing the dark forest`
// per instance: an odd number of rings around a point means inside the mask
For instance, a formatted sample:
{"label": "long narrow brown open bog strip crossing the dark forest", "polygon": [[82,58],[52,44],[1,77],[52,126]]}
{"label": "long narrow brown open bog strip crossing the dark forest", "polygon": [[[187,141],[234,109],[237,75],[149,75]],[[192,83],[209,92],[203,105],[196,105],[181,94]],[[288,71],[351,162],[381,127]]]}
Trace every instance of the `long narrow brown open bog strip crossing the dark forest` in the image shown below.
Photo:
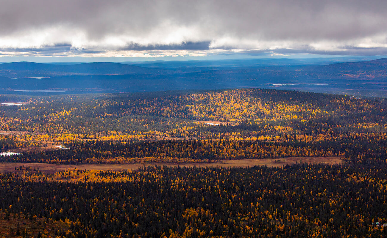
{"label": "long narrow brown open bog strip crossing the dark forest", "polygon": [[[279,162],[274,162],[279,160]],[[84,165],[65,165],[65,164],[49,164],[49,163],[0,163],[0,172],[15,171],[15,167],[32,167],[39,168],[42,172],[57,172],[67,169],[81,170],[137,170],[139,167],[145,166],[185,166],[185,167],[248,167],[256,165],[267,165],[269,167],[283,166],[301,163],[324,163],[324,164],[340,164],[342,159],[337,156],[332,157],[288,157],[279,159],[244,159],[244,160],[222,160],[215,163],[134,163],[134,164],[84,164]]]}

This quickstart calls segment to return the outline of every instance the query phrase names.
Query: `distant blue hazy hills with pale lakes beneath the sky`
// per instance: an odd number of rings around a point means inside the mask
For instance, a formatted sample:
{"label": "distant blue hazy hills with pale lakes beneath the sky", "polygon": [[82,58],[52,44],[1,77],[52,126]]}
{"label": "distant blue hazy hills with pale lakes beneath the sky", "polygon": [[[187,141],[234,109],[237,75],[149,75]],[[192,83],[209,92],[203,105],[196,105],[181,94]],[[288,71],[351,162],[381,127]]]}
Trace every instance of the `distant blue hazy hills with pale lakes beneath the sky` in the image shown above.
{"label": "distant blue hazy hills with pale lakes beneath the sky", "polygon": [[[386,96],[387,58],[306,65],[298,59],[156,61],[135,63],[0,65],[0,92],[143,92],[222,88],[280,88]],[[272,65],[270,65],[272,64]],[[144,67],[147,66],[147,67]]]}

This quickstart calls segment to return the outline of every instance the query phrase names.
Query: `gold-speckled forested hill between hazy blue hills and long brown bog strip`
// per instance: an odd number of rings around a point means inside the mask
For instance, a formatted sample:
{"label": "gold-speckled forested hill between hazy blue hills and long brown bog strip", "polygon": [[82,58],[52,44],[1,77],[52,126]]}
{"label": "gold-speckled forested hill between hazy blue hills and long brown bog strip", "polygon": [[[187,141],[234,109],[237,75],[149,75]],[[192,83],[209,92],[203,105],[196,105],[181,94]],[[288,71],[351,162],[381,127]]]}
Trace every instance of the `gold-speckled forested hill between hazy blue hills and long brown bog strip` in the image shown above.
{"label": "gold-speckled forested hill between hazy blue hills and long brown bog strip", "polygon": [[[385,100],[267,89],[0,95],[7,162],[209,162],[340,156],[386,163]],[[66,150],[26,147],[62,143]],[[43,143],[43,145],[41,145]],[[26,151],[26,152],[24,152]]]}

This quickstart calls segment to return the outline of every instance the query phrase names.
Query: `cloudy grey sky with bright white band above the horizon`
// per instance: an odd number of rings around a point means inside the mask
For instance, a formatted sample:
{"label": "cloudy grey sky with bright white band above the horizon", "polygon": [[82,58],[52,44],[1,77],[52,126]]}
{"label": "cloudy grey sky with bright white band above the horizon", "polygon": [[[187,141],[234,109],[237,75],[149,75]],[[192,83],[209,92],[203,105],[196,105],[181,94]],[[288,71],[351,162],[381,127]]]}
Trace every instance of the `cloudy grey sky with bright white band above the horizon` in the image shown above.
{"label": "cloudy grey sky with bright white band above the horizon", "polygon": [[2,0],[0,62],[387,55],[385,0]]}

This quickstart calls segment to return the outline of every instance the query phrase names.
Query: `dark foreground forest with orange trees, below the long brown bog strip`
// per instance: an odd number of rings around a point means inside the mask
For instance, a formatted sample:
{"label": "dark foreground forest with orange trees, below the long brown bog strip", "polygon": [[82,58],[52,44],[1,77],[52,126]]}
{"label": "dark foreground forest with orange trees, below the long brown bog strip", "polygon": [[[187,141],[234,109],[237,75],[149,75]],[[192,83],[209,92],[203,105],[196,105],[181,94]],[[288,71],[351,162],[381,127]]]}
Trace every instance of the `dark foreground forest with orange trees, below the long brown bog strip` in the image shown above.
{"label": "dark foreground forest with orange trees, below the long brown bog strip", "polygon": [[57,237],[387,236],[385,164],[7,173],[0,194]]}

